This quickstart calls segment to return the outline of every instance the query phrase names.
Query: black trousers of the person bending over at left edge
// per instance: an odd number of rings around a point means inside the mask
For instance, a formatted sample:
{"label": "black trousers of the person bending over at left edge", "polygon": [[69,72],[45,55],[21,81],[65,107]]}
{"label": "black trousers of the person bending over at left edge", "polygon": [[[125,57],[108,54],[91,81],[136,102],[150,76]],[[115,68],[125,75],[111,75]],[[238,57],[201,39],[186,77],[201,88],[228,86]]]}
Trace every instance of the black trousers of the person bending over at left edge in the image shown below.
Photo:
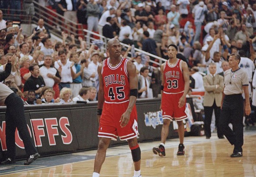
{"label": "black trousers of the person bending over at left edge", "polygon": [[26,123],[24,105],[21,98],[17,94],[10,94],[4,104],[6,105],[5,113],[5,135],[7,146],[7,158],[15,160],[15,130],[18,129],[19,136],[21,137],[27,156],[37,153],[33,141],[30,137],[28,126]]}

